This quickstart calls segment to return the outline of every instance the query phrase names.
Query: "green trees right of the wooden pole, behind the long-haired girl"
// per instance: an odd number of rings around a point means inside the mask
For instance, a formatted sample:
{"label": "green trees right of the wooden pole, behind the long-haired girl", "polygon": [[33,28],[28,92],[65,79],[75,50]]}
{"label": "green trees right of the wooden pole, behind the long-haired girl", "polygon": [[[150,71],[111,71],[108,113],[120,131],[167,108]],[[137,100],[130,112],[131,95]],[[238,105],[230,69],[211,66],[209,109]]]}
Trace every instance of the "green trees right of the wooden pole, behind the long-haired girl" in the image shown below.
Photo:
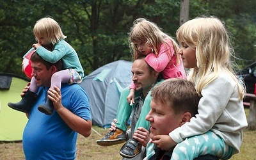
{"label": "green trees right of the wooden pole, behind the long-haired girl", "polygon": [[256,3],[254,0],[190,0],[190,3],[191,19],[198,15],[214,15],[225,22],[232,35],[236,56],[241,59],[237,61],[241,67],[256,60]]}

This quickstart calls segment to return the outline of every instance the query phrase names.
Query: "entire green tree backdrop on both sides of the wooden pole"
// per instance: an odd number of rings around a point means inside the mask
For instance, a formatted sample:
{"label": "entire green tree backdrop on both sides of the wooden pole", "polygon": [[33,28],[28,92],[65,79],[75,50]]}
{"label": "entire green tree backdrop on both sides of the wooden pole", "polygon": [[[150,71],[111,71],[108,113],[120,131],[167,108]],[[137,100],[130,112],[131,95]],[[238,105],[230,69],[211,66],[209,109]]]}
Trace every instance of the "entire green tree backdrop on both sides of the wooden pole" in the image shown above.
{"label": "entire green tree backdrop on both sides of the wooden pole", "polygon": [[[189,19],[216,15],[224,20],[238,56],[247,60],[241,65],[247,65],[255,61],[255,5],[253,0],[190,0]],[[127,33],[135,19],[145,17],[175,37],[179,12],[177,0],[0,0],[1,72],[24,76],[20,63],[36,43],[33,26],[47,15],[59,22],[90,74],[111,61],[131,61]]]}

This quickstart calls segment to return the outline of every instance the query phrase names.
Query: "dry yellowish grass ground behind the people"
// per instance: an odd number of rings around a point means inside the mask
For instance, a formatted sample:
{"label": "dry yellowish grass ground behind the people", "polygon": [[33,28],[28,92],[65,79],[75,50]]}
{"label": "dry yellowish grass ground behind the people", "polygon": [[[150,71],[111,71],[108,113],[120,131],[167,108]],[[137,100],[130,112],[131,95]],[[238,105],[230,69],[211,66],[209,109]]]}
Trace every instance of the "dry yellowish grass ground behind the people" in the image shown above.
{"label": "dry yellowish grass ground behind the people", "polygon": [[[248,115],[249,109],[245,109]],[[96,141],[102,138],[108,129],[102,129],[93,126],[92,134],[89,138],[84,138],[79,134],[77,138],[77,159],[121,159],[119,149],[123,144],[111,147],[101,147]],[[100,135],[99,135],[100,134]],[[244,140],[240,148],[239,154],[234,155],[232,160],[256,160],[256,131],[244,131]],[[22,151],[22,143],[0,143],[0,159],[19,160],[24,159]]]}

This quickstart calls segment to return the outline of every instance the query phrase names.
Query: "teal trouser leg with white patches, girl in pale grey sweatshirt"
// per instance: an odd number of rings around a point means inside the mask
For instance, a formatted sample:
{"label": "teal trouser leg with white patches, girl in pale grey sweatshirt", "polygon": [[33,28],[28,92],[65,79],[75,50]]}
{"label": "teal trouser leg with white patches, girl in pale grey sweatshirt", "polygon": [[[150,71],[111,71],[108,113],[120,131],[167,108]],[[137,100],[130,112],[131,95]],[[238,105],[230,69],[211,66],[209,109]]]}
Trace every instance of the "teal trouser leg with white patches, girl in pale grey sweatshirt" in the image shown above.
{"label": "teal trouser leg with white patches, girl in pale grey sweatshirt", "polygon": [[171,159],[194,159],[198,156],[211,154],[221,159],[232,156],[234,148],[225,144],[220,136],[212,131],[198,136],[186,138],[173,149]]}

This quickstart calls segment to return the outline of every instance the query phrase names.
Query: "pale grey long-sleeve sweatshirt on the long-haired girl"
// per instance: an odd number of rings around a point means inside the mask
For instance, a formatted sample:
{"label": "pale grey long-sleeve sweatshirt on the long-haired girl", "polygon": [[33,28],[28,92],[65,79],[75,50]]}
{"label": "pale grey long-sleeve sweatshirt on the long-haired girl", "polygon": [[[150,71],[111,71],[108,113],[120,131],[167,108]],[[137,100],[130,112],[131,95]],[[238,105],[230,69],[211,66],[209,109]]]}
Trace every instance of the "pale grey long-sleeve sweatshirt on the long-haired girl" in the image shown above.
{"label": "pale grey long-sleeve sweatshirt on the long-haired girl", "polygon": [[198,104],[198,115],[190,122],[170,132],[170,137],[180,143],[189,136],[211,130],[227,145],[239,152],[243,130],[247,127],[243,101],[239,100],[237,84],[227,73],[205,86]]}

